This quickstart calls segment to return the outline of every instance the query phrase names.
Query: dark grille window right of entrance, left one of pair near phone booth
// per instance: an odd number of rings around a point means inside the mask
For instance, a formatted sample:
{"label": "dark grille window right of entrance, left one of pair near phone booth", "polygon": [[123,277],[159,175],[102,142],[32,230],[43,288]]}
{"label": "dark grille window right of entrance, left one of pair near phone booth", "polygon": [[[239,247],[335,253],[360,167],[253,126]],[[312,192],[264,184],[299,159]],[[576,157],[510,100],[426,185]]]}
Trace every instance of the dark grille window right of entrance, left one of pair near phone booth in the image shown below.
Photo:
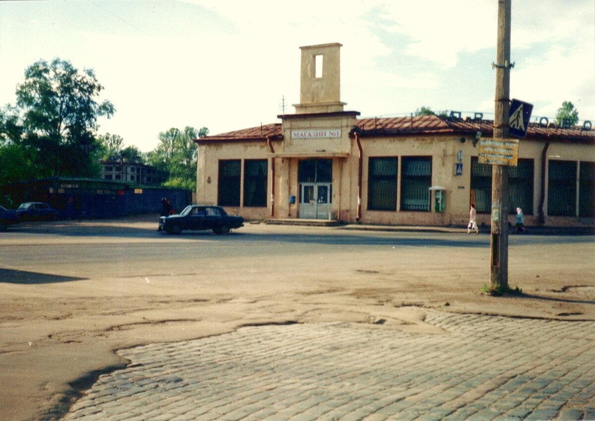
{"label": "dark grille window right of entrance, left one of pair near phone booth", "polygon": [[368,159],[368,209],[397,210],[398,158]]}

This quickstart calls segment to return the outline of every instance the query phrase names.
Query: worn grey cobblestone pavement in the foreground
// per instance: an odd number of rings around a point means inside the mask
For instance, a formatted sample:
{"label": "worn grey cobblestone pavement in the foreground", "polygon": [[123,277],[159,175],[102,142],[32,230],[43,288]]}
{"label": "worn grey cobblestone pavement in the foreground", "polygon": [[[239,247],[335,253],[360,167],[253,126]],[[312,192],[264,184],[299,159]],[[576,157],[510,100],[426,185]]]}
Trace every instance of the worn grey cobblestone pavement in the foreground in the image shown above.
{"label": "worn grey cobblestone pavement in the foreground", "polygon": [[122,350],[67,421],[594,420],[595,322],[428,310],[383,325],[254,326]]}

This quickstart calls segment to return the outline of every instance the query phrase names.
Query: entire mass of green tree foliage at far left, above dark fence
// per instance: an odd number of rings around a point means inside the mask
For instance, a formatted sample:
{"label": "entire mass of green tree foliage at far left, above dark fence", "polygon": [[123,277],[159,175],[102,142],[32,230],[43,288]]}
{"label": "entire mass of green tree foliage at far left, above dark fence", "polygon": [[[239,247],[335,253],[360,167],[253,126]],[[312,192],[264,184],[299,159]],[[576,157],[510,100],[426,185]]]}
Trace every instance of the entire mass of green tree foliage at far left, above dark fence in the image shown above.
{"label": "entire mass of green tree foliage at far left, above dark fence", "polygon": [[97,120],[111,117],[115,109],[108,100],[98,102],[103,87],[93,71],[79,71],[57,58],[35,62],[24,76],[17,85],[16,104],[0,110],[0,162],[18,156],[21,165],[10,172],[3,169],[0,184],[98,175]]}

